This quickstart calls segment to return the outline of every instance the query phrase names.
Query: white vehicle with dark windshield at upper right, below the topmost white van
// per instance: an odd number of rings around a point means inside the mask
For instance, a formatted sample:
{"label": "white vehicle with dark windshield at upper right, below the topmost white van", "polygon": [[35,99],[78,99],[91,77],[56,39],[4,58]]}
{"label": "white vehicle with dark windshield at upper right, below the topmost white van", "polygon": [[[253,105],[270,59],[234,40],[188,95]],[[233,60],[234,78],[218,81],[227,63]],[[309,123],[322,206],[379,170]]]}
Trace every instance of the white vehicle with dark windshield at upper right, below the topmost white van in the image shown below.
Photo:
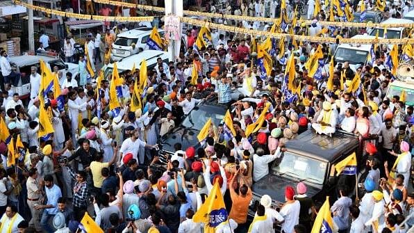
{"label": "white vehicle with dark windshield at upper right, below the topmost white van", "polygon": [[[354,35],[351,39],[374,39],[371,35]],[[349,67],[356,70],[356,66],[365,65],[367,57],[370,53],[371,44],[340,44],[336,47],[333,59],[336,63],[349,62]]]}

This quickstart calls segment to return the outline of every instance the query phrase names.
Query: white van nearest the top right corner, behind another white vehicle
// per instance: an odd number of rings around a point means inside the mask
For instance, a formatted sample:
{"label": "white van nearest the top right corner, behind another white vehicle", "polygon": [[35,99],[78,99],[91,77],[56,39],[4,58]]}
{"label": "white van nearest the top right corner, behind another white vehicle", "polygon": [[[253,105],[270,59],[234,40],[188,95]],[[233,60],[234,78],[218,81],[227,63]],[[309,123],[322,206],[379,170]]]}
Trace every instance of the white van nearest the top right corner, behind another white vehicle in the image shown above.
{"label": "white van nearest the top right corner, behind another white vehicle", "polygon": [[[389,18],[381,22],[381,24],[413,24],[413,20],[410,19],[395,19]],[[372,29],[370,35],[375,36],[378,31],[378,38],[383,38],[384,28],[376,27]],[[411,28],[387,28],[387,39],[401,39],[406,38],[410,33]],[[390,45],[392,47],[392,45]]]}

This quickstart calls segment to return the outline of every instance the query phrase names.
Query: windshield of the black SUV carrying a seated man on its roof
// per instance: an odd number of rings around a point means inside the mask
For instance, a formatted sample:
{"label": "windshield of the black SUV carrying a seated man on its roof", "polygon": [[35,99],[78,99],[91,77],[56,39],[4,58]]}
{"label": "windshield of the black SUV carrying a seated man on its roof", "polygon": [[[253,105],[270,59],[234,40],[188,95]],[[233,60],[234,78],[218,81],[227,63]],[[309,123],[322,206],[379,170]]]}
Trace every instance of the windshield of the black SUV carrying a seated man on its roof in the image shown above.
{"label": "windshield of the black SUV carrying a seated man on its roof", "polygon": [[284,152],[274,163],[272,170],[283,177],[293,177],[301,181],[323,184],[327,163],[292,152]]}

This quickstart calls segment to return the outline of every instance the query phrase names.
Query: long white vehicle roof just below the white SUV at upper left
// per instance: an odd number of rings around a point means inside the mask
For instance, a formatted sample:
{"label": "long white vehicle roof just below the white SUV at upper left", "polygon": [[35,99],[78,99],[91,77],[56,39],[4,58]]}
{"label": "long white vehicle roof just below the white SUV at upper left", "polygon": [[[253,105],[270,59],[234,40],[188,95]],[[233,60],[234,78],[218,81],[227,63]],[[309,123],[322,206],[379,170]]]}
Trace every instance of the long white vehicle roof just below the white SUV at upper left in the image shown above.
{"label": "long white vehicle roof just below the white SUV at upper left", "polygon": [[[139,54],[133,54],[132,56],[127,56],[123,58],[121,61],[117,62],[117,69],[118,70],[132,70],[133,64],[135,63],[135,68],[140,69],[142,60],[147,61],[147,65],[149,63],[155,63],[156,59],[160,57],[163,60],[169,58],[169,54],[167,51],[159,51],[159,50],[144,50]],[[154,60],[154,61],[153,61]],[[113,63],[110,63],[108,67],[113,68]]]}

